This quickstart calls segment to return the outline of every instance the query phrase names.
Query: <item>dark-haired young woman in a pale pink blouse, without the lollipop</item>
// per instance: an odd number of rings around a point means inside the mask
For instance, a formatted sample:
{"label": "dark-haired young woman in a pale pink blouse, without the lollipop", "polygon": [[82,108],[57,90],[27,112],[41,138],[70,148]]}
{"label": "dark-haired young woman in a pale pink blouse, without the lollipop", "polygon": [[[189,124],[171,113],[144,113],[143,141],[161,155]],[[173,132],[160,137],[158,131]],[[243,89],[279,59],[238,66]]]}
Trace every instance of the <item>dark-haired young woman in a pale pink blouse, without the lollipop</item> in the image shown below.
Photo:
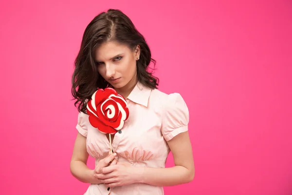
{"label": "dark-haired young woman in a pale pink blouse, without the lollipop", "polygon": [[[96,16],[87,26],[75,60],[72,93],[78,105],[76,137],[70,164],[78,180],[90,183],[86,195],[163,195],[163,186],[194,178],[188,136],[188,108],[178,93],[157,89],[148,72],[150,49],[131,20],[119,10]],[[114,88],[127,100],[128,119],[111,136],[91,126],[86,106],[99,88]],[[175,166],[165,168],[172,152]],[[87,167],[88,156],[95,169]]]}

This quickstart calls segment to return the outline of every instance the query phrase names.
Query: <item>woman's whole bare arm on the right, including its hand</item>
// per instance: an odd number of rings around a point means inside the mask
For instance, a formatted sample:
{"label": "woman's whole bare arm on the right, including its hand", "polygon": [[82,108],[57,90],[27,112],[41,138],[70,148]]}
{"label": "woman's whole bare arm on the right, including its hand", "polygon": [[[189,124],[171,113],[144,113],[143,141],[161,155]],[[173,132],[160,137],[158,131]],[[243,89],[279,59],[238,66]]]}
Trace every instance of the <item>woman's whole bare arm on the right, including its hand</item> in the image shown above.
{"label": "woman's whole bare arm on the right, including its hand", "polygon": [[188,183],[195,174],[192,147],[188,132],[173,137],[168,142],[175,166],[171,168],[134,167],[127,163],[102,168],[101,179],[107,187],[146,183],[153,186],[173,186]]}

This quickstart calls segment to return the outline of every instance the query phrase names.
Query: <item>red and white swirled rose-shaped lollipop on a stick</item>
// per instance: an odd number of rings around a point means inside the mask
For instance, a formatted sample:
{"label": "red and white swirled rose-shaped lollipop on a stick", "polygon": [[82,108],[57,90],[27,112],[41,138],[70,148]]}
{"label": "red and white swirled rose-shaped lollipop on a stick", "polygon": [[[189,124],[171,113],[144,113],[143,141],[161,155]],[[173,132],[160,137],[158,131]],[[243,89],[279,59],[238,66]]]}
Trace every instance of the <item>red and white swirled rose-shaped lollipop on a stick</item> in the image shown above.
{"label": "red and white swirled rose-shaped lollipop on a stick", "polygon": [[[114,89],[98,89],[87,103],[87,113],[91,125],[104,134],[115,134],[128,119],[129,109],[126,99]],[[110,153],[111,137],[110,137]]]}

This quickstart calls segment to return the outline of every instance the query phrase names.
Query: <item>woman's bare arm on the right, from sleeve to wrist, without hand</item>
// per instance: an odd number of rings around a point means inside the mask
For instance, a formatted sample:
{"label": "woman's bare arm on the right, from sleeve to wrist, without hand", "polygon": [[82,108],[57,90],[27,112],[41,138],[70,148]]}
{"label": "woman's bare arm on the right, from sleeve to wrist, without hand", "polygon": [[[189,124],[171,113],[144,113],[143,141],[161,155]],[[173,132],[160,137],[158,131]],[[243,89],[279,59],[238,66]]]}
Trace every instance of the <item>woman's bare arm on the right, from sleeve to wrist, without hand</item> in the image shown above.
{"label": "woman's bare arm on the right, from sleeve to wrist, without hand", "polygon": [[192,146],[188,132],[173,137],[168,142],[175,166],[171,168],[137,167],[138,182],[153,186],[173,186],[188,183],[195,175]]}

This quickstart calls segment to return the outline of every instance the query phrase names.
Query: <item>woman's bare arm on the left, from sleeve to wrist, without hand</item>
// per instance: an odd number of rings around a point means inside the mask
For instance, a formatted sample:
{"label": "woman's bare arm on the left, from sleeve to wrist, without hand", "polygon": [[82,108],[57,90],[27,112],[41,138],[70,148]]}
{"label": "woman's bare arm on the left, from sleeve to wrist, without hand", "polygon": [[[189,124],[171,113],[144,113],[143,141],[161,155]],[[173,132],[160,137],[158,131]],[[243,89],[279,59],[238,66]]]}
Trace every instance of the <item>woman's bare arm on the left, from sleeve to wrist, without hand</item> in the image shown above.
{"label": "woman's bare arm on the left, from sleeve to wrist, without hand", "polygon": [[86,151],[86,137],[78,133],[70,162],[70,171],[79,181],[99,184],[101,181],[94,177],[94,170],[87,167],[88,153]]}

